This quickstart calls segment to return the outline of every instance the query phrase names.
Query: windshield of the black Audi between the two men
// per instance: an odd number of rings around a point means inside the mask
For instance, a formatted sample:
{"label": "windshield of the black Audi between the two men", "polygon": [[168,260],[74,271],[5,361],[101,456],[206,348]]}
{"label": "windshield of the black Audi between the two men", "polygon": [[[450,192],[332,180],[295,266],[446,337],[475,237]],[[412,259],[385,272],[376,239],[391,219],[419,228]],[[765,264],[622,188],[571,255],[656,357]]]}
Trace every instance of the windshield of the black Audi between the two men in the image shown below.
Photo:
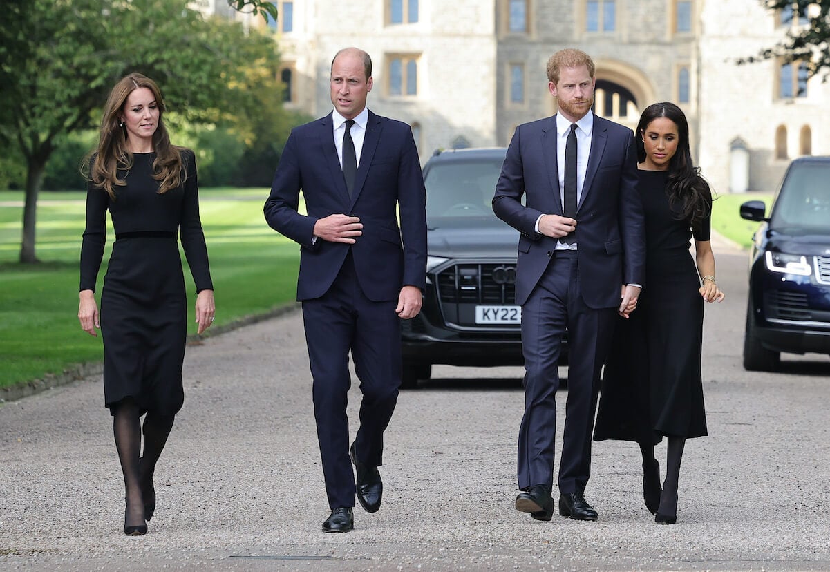
{"label": "windshield of the black Audi between the two men", "polygon": [[503,161],[493,157],[433,164],[424,177],[429,225],[440,227],[452,224],[448,219],[466,218],[476,226],[504,226],[491,208]]}

